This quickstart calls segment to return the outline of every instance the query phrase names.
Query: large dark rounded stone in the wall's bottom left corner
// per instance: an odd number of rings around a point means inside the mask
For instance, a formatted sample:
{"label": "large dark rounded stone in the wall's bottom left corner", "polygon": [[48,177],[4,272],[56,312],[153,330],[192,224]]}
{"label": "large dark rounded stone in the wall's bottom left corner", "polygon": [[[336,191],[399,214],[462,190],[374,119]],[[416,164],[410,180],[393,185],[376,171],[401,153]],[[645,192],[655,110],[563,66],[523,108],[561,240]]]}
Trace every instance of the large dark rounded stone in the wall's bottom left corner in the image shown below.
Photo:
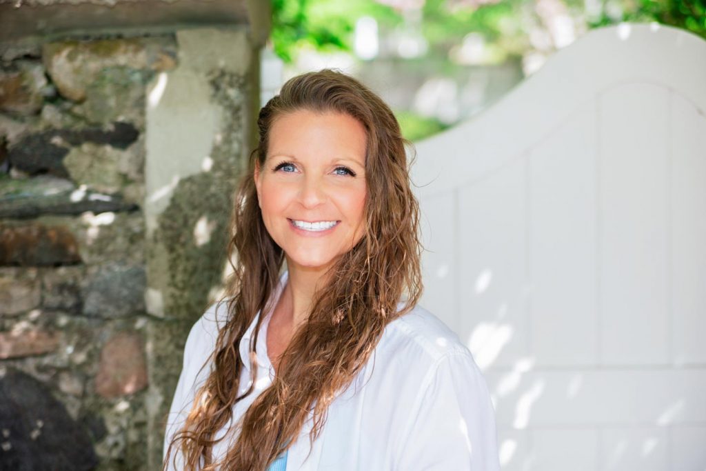
{"label": "large dark rounded stone in the wall's bottom left corner", "polygon": [[15,369],[0,375],[0,429],[2,470],[88,471],[98,463],[84,427],[44,384]]}

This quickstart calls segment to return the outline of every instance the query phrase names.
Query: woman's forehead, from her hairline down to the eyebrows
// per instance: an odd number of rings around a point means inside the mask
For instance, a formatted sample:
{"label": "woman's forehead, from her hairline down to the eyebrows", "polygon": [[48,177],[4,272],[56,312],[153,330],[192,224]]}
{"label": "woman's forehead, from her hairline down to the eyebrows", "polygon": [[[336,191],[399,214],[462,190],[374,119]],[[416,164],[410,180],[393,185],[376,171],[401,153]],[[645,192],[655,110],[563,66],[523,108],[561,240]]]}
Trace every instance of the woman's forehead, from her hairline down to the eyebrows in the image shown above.
{"label": "woman's forehead, from her hairline down to the eyebrows", "polygon": [[299,109],[275,118],[268,138],[268,157],[278,153],[294,157],[326,153],[335,157],[365,158],[366,131],[349,114]]}

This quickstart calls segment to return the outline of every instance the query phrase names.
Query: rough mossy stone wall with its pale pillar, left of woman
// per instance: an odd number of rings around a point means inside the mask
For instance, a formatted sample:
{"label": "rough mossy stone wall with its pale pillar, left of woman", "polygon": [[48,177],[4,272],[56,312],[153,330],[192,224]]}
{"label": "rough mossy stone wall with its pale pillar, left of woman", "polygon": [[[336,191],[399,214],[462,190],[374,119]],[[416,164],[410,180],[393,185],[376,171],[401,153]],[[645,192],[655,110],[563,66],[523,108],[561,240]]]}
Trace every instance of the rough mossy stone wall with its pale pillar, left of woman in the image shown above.
{"label": "rough mossy stone wall with its pale pillar, left of woman", "polygon": [[237,28],[0,50],[0,469],[160,466],[225,267],[252,50]]}

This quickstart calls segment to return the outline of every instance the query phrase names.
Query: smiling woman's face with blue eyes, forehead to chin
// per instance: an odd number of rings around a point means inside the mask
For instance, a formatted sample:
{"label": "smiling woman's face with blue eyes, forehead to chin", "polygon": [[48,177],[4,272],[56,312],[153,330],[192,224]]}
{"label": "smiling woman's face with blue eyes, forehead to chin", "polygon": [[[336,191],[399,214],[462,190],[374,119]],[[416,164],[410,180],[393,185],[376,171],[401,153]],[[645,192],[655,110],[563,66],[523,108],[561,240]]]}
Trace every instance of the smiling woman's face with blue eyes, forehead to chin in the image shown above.
{"label": "smiling woman's face with blue eyes, forehead to chin", "polygon": [[325,270],[361,239],[365,154],[364,126],[347,114],[298,110],[275,119],[255,182],[289,270]]}

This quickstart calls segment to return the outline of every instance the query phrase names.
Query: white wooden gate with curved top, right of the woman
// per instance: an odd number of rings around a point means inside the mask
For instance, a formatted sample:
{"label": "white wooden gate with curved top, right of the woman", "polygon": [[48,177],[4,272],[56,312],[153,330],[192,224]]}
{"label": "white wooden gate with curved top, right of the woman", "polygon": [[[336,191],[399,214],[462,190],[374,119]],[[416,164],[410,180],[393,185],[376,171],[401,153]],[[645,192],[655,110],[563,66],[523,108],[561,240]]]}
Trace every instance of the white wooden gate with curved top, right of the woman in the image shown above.
{"label": "white wooden gate with curved top, right of the woman", "polygon": [[706,469],[706,42],[594,30],[417,145],[427,309],[505,470]]}

